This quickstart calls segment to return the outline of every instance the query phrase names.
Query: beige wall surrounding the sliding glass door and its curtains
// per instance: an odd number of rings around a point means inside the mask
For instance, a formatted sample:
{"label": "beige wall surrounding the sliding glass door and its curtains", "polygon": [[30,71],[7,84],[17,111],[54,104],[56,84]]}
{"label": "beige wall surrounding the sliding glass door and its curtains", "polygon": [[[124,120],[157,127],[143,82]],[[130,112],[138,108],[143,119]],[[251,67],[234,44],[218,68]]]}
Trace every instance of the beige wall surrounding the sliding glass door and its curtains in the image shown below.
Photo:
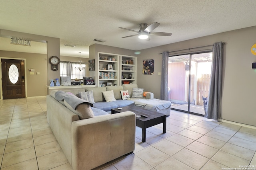
{"label": "beige wall surrounding the sliding glass door and its curtains", "polygon": [[[161,72],[162,68],[162,55],[158,53],[212,45],[222,41],[225,45],[221,118],[256,126],[256,70],[251,69],[252,62],[256,62],[256,56],[250,52],[252,45],[256,43],[255,31],[256,27],[248,27],[141,50],[137,59],[137,84],[144,90],[154,92],[155,98],[160,98],[161,76],[158,76],[158,72]],[[155,59],[154,75],[143,75],[140,71],[140,63],[144,59]]]}

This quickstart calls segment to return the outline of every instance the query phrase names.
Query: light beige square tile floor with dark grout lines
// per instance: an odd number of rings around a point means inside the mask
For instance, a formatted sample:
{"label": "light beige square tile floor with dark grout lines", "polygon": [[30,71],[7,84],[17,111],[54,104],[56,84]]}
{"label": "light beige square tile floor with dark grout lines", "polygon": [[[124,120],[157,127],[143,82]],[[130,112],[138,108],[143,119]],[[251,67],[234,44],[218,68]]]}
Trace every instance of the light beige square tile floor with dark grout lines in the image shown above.
{"label": "light beige square tile floor with dark grout lines", "polygon": [[[167,131],[136,128],[134,154],[95,170],[256,169],[256,129],[171,110]],[[46,120],[46,97],[0,101],[1,170],[72,170]]]}

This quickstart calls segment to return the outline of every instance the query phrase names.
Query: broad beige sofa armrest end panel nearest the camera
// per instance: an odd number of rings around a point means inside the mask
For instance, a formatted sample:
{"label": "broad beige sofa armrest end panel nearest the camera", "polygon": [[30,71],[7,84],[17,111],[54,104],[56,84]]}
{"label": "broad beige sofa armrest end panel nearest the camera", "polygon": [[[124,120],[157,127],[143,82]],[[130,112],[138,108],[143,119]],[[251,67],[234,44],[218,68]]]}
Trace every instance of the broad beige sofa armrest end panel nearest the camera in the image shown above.
{"label": "broad beige sofa armrest end panel nearest the camera", "polygon": [[135,149],[136,115],[131,111],[72,122],[72,167],[92,169]]}

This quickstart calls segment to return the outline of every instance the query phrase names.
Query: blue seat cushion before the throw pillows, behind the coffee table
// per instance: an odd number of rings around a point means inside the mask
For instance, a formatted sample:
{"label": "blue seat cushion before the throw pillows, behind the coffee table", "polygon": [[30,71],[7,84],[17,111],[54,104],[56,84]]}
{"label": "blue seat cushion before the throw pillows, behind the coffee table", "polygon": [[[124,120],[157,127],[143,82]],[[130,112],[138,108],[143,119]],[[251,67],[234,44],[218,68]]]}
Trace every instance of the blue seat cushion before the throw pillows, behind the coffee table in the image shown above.
{"label": "blue seat cushion before the throw pillows, behind the coffee table", "polygon": [[96,102],[93,104],[94,108],[102,109],[104,111],[111,111],[111,109],[118,108],[118,107],[125,107],[125,106],[134,106],[134,101],[132,100],[122,100],[118,99],[114,102]]}

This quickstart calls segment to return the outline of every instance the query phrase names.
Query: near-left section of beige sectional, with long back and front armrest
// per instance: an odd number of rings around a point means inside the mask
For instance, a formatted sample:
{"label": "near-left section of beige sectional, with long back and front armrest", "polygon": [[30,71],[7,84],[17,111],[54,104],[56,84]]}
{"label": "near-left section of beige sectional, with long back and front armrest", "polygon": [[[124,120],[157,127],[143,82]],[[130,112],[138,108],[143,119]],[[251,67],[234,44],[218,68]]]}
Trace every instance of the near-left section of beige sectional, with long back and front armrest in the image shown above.
{"label": "near-left section of beige sectional, with long back and front armrest", "polygon": [[[47,121],[74,170],[91,170],[135,149],[135,113],[111,115],[94,108],[102,115],[92,115],[95,112],[87,104],[74,110],[65,101],[56,100],[54,91],[47,95],[46,104]],[[81,119],[78,110],[88,119]]]}

